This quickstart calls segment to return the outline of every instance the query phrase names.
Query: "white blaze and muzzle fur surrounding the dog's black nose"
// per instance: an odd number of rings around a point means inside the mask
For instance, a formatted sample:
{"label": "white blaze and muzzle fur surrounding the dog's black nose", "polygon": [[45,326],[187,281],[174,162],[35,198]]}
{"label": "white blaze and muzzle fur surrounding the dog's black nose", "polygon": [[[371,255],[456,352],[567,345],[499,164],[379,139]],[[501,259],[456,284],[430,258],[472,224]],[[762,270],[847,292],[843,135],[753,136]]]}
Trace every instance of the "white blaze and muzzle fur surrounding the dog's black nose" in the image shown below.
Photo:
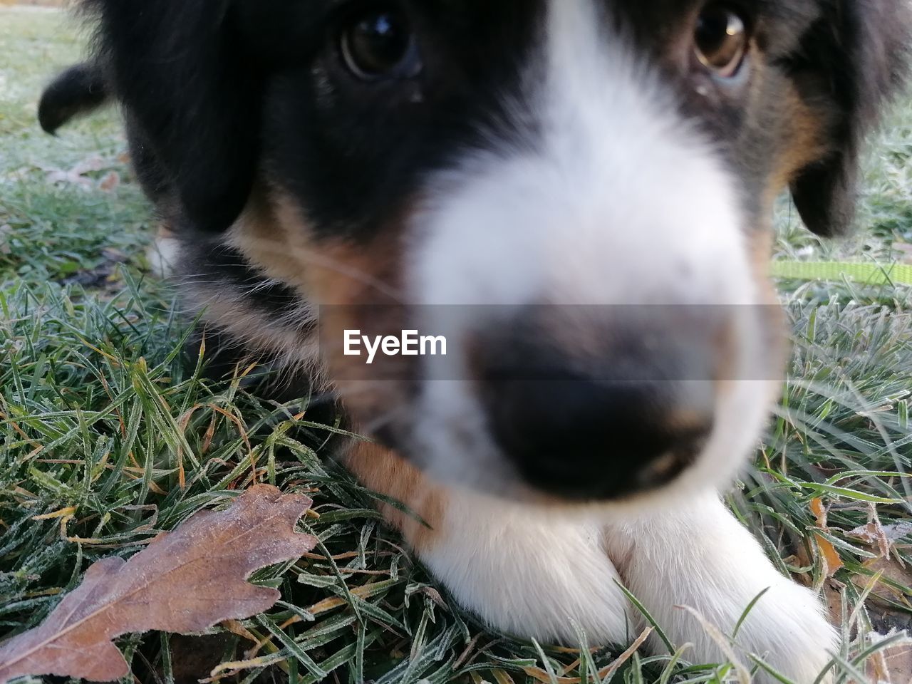
{"label": "white blaze and muzzle fur surrounding the dog's black nose", "polygon": [[[540,126],[528,133],[536,140],[474,153],[434,181],[416,219],[409,290],[426,305],[420,329],[447,336],[449,358],[425,360],[429,375],[447,378],[472,377],[465,340],[503,306],[727,306],[739,357],[720,392],[718,427],[697,465],[660,492],[667,500],[730,482],[762,427],[772,383],[748,379],[770,377],[750,306],[761,294],[749,227],[712,143],[681,118],[624,36],[600,26],[609,22],[593,0],[552,0],[546,78],[534,82],[533,67],[526,88],[538,104]],[[469,382],[424,383],[411,451],[442,482],[522,498],[518,478],[492,477],[509,466],[473,391]]]}

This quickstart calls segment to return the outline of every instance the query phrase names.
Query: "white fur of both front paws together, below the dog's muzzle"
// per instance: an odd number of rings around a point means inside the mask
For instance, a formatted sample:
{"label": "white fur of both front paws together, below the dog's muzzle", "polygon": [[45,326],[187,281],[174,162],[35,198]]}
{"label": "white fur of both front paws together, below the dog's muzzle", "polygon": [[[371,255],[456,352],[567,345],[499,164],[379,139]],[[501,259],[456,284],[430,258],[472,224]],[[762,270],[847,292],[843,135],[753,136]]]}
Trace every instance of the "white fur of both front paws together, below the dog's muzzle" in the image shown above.
{"label": "white fur of both front paws together, below the dog's muzzle", "polygon": [[[672,512],[619,521],[457,490],[450,497],[422,560],[462,606],[501,631],[575,645],[575,623],[590,646],[626,644],[645,623],[619,579],[673,643],[693,645],[685,658],[720,662],[720,648],[679,606],[731,635],[751,600],[769,587],[738,634],[734,650],[742,663],[751,667],[752,653],[810,684],[838,650],[814,592],[780,575],[715,493]],[[658,637],[648,650],[666,652]]]}

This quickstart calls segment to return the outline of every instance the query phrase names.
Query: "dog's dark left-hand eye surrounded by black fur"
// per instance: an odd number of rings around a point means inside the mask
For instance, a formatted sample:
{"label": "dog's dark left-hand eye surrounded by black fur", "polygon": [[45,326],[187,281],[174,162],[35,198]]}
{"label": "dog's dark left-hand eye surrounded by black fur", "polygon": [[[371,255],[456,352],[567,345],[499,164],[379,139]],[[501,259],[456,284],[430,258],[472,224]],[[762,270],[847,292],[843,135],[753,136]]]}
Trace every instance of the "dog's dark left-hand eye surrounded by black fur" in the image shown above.
{"label": "dog's dark left-hand eye surrounded by black fur", "polygon": [[375,8],[355,16],[339,40],[346,67],[358,78],[411,78],[420,71],[415,36],[395,10]]}

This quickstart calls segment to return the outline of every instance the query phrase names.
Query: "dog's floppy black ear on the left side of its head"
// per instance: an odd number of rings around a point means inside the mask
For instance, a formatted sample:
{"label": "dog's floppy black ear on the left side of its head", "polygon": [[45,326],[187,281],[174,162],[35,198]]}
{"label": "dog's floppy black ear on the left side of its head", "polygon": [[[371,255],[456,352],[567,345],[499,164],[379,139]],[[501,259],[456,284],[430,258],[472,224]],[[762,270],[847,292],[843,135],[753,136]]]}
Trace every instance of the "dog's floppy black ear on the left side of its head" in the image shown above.
{"label": "dog's floppy black ear on the left side of its head", "polygon": [[223,231],[259,157],[260,88],[232,0],[87,0],[132,139],[150,150],[181,218]]}

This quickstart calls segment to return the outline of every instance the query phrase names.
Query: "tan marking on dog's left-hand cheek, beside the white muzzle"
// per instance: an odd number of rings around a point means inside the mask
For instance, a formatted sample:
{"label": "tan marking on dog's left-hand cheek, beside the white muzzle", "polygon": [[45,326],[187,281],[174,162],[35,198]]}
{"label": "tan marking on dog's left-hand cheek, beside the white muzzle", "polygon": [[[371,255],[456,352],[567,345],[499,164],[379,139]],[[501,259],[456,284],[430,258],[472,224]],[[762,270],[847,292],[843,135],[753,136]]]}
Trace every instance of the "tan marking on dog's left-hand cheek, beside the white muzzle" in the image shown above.
{"label": "tan marking on dog's left-hand cheek, beside the white muzzle", "polygon": [[409,362],[378,354],[366,368],[364,358],[345,355],[345,331],[398,337],[405,327],[406,311],[398,306],[400,233],[399,223],[393,222],[366,244],[316,239],[291,198],[261,190],[228,237],[261,273],[294,287],[310,303],[320,317],[317,352],[326,378],[352,417],[368,427],[388,415],[389,407],[407,401],[403,378]]}

